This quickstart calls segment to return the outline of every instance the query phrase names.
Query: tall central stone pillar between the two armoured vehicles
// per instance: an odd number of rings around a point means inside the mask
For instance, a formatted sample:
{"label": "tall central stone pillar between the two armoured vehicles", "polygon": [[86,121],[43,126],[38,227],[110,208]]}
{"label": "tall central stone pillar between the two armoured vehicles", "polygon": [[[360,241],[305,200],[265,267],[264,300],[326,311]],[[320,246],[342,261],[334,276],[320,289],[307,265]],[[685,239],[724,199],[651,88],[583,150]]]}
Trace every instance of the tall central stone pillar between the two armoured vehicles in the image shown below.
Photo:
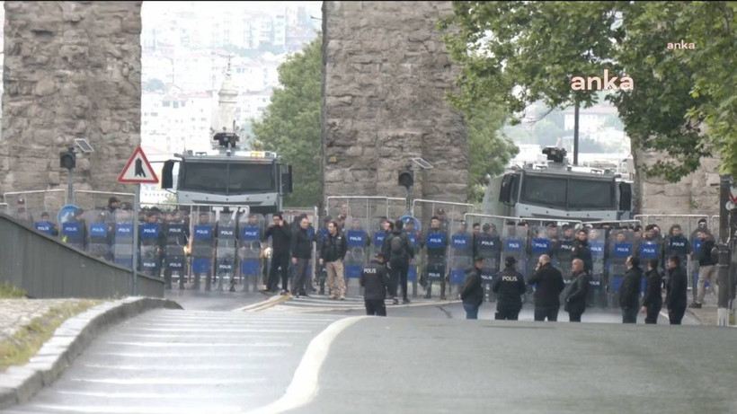
{"label": "tall central stone pillar between the two armoured vehicles", "polygon": [[422,157],[413,198],[465,202],[466,126],[444,95],[458,67],[436,30],[451,2],[324,2],[324,196],[404,197],[398,171]]}

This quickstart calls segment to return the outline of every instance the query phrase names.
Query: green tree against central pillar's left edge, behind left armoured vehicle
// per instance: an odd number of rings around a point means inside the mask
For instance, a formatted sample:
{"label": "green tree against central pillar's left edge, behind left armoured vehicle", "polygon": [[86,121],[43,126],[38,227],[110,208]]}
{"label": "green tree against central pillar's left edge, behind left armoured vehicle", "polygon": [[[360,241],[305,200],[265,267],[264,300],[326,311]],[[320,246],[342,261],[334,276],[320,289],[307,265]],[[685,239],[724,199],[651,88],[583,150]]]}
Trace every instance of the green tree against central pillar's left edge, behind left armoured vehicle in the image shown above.
{"label": "green tree against central pillar's left edge, behind left armoured vehicle", "polygon": [[294,192],[285,198],[290,207],[320,202],[321,45],[320,36],[279,66],[281,87],[271,94],[262,120],[253,123],[264,149],[292,165]]}

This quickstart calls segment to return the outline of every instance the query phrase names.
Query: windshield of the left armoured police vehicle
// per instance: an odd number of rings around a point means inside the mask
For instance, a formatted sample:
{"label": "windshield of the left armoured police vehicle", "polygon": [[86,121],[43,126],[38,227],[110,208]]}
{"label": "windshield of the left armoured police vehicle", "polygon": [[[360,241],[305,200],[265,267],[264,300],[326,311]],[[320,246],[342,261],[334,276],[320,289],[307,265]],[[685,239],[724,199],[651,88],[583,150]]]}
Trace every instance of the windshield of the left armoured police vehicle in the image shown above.
{"label": "windshield of the left armoured police vehicle", "polygon": [[275,191],[271,163],[184,163],[179,189],[220,194]]}

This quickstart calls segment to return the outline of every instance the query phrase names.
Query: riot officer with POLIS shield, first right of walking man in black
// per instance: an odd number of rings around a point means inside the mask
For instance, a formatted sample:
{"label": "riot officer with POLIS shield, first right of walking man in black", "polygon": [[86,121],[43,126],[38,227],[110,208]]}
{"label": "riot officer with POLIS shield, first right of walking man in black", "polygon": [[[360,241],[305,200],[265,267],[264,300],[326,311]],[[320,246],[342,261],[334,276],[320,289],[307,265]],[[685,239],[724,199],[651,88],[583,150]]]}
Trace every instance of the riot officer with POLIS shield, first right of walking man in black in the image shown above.
{"label": "riot officer with POLIS shield, first right of walking man in black", "polygon": [[[426,227],[425,225],[422,226]],[[440,300],[445,299],[446,276],[448,268],[448,233],[443,230],[439,220],[431,220],[424,235],[422,261],[425,264],[423,281],[425,298],[432,297],[432,285],[440,284]]]}

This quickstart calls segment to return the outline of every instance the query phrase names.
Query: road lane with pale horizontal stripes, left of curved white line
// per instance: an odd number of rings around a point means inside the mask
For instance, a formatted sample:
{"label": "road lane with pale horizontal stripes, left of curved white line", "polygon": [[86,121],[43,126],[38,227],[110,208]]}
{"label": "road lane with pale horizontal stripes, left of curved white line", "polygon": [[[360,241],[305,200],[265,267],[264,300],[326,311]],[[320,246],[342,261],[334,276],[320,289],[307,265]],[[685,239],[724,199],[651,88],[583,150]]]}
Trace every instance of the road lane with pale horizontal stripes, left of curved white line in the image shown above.
{"label": "road lane with pale horizontal stripes, left of curved white line", "polygon": [[95,339],[51,387],[7,413],[218,414],[287,389],[307,345],[336,318],[152,311]]}

